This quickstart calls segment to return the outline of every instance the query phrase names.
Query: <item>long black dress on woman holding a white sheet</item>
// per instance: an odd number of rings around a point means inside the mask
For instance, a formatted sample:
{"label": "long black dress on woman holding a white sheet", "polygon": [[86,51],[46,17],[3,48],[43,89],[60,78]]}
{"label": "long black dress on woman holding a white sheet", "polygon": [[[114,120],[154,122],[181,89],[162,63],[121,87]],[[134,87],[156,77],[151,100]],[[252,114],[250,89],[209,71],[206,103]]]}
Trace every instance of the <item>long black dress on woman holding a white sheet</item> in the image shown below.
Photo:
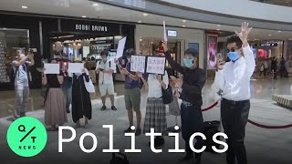
{"label": "long black dress on woman holding a white sheet", "polygon": [[72,118],[76,123],[85,116],[91,119],[92,107],[89,92],[87,91],[83,78],[89,82],[89,76],[83,73],[80,76],[73,74],[72,86]]}

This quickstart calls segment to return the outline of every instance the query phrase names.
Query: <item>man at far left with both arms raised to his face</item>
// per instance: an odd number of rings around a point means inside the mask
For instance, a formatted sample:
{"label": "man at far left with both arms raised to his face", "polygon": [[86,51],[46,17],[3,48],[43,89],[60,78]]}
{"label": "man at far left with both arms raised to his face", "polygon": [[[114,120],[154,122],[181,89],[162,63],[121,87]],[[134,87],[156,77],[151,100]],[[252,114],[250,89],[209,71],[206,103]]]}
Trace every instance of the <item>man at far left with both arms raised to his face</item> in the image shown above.
{"label": "man at far left with both arms raised to his face", "polygon": [[[15,119],[26,116],[26,108],[29,97],[29,70],[28,67],[35,65],[34,55],[29,52],[28,55],[21,54],[17,50],[17,60],[12,62],[15,70],[15,88],[16,88],[16,110]],[[27,61],[29,59],[30,61]]]}

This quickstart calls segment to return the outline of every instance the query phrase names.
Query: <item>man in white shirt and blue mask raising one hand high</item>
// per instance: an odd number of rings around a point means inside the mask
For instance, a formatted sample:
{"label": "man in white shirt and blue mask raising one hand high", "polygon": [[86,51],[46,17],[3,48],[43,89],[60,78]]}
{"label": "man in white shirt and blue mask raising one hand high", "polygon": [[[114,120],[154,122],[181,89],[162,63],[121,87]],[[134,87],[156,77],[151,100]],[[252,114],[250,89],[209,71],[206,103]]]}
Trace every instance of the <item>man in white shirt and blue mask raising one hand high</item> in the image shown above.
{"label": "man in white shirt and blue mask raising one hand high", "polygon": [[222,91],[221,117],[224,132],[228,136],[227,163],[246,164],[245,125],[250,108],[250,77],[255,70],[255,57],[248,45],[247,36],[252,28],[242,24],[242,31],[227,39],[227,56],[230,62],[218,61],[214,80]]}

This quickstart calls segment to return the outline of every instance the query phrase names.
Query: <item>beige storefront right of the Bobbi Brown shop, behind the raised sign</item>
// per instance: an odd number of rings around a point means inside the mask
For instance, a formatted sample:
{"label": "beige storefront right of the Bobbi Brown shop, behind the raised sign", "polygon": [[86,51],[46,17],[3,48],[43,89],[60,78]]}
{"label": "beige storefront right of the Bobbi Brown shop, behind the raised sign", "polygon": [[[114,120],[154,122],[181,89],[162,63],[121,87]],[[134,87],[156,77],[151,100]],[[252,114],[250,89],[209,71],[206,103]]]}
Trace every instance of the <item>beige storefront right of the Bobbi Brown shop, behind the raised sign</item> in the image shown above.
{"label": "beige storefront right of the Bobbi Brown shop, behind the raised sign", "polygon": [[[178,63],[183,64],[184,51],[193,47],[198,50],[199,67],[204,68],[204,31],[188,28],[166,27],[168,36],[168,48],[172,51],[172,58]],[[162,26],[136,26],[135,43],[137,53],[141,55],[155,55],[160,41],[163,39]],[[172,70],[169,64],[166,64],[166,70],[169,75],[176,76],[177,73]]]}

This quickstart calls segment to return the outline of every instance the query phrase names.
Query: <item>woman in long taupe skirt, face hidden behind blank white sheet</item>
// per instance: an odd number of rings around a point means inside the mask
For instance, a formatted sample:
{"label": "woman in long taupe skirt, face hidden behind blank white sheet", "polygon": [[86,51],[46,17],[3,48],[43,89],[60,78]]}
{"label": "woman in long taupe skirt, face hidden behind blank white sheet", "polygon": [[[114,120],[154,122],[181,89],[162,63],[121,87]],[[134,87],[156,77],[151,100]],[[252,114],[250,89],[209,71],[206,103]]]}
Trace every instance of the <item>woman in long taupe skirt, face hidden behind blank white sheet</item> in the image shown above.
{"label": "woman in long taupe skirt, face hidden behind blank white sheet", "polygon": [[[52,60],[51,63],[57,63]],[[57,125],[62,126],[67,121],[65,99],[61,85],[64,82],[62,72],[60,74],[44,74],[43,85],[47,85],[47,99],[45,102],[45,124],[50,126],[48,130],[56,131]]]}

